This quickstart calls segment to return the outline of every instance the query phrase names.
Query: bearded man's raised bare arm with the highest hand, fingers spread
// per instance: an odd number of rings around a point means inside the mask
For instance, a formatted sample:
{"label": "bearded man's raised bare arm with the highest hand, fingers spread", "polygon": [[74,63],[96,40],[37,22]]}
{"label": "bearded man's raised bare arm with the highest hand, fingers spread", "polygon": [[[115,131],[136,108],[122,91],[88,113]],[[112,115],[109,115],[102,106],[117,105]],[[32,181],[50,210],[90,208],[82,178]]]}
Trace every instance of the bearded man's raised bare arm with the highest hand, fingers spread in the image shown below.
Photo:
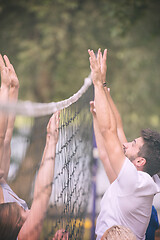
{"label": "bearded man's raised bare arm with the highest hand, fingers spread", "polygon": [[[114,113],[111,109],[108,96],[103,88],[101,75],[100,50],[98,50],[97,59],[93,51],[89,50],[91,75],[95,89],[95,108],[100,132],[104,138],[104,143],[110,164],[113,171],[118,176],[124,163],[124,153],[117,135],[117,123]],[[104,51],[103,59],[106,60],[107,50]]]}

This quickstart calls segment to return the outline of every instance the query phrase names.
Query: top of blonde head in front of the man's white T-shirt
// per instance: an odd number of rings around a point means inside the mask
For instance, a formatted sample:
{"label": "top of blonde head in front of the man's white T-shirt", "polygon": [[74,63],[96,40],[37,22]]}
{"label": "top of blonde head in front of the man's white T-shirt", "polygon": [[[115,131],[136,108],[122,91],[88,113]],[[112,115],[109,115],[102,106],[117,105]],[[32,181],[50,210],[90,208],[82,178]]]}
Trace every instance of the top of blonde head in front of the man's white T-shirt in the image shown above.
{"label": "top of blonde head in front of the man's white T-shirt", "polygon": [[129,228],[115,225],[105,231],[101,240],[136,240],[136,236]]}

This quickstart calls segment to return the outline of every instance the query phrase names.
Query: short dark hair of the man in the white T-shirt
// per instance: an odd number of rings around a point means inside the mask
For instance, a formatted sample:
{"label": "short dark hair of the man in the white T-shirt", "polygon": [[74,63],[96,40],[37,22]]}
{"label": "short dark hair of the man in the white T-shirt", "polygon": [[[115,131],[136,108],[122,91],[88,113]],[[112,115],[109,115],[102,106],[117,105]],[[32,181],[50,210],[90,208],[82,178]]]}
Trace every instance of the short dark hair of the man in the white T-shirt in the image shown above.
{"label": "short dark hair of the man in the white T-shirt", "polygon": [[160,133],[149,128],[141,131],[144,145],[138,156],[146,159],[144,171],[151,177],[160,171]]}

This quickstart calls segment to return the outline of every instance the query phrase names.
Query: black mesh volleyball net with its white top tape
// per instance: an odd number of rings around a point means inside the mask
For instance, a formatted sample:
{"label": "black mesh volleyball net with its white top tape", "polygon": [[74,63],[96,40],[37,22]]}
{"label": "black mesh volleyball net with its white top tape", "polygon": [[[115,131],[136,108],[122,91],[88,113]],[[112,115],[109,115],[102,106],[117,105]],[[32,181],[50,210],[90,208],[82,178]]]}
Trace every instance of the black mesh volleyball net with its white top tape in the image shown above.
{"label": "black mesh volleyball net with its white top tape", "polygon": [[52,195],[41,239],[53,239],[62,229],[69,234],[69,239],[83,239],[91,183],[92,116],[89,102],[92,99],[89,76],[76,94],[61,102],[0,104],[0,112],[17,115],[9,184],[29,206],[44,150],[46,126],[51,114],[60,110]]}

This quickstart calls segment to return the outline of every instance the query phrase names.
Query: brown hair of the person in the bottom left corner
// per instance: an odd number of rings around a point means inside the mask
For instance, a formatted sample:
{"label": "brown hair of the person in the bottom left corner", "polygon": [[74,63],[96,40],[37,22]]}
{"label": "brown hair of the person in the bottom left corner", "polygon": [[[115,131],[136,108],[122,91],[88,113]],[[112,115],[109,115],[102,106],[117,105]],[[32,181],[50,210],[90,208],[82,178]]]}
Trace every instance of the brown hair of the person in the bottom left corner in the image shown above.
{"label": "brown hair of the person in the bottom left corner", "polygon": [[0,239],[16,240],[22,227],[17,203],[0,204]]}

